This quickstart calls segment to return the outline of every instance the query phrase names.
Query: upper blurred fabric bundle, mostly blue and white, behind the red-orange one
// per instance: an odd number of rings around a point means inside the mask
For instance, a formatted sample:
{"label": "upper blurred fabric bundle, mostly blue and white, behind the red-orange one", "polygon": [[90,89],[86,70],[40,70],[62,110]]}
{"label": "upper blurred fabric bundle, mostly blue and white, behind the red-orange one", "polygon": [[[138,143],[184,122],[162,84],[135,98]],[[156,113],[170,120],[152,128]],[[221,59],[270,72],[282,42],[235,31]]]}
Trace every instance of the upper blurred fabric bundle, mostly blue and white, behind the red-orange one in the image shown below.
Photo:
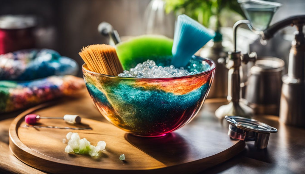
{"label": "upper blurred fabric bundle, mostly blue and white, behind the red-orange one", "polygon": [[0,80],[34,80],[77,72],[74,60],[51,49],[26,49],[0,55]]}

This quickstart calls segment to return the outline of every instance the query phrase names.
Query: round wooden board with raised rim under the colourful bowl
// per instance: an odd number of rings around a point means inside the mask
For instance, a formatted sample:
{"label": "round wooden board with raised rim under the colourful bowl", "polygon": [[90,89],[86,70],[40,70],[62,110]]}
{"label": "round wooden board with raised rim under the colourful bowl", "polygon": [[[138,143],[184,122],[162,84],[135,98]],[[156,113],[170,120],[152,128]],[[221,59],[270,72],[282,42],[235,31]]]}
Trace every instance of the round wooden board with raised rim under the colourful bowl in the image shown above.
{"label": "round wooden board with raised rim under the colourful bowl", "polygon": [[[77,114],[83,118],[82,125],[77,126],[92,130],[25,127],[24,116],[30,113],[53,117]],[[9,147],[22,162],[51,173],[196,173],[232,158],[245,147],[242,141],[230,140],[228,128],[205,115],[199,112],[191,123],[164,137],[136,137],[108,123],[84,92],[80,97],[43,104],[18,115],[9,129]],[[41,119],[39,126],[46,125],[76,127],[63,120]],[[70,131],[93,145],[104,140],[106,149],[97,158],[68,154],[63,138]],[[119,160],[120,154],[125,154],[125,161]]]}

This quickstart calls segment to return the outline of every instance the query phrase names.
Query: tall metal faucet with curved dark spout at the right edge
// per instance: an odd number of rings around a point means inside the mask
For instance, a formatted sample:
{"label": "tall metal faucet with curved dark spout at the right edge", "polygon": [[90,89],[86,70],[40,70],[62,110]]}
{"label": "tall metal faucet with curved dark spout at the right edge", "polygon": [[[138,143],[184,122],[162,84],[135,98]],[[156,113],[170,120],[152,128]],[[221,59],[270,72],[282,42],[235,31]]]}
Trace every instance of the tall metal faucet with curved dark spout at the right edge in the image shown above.
{"label": "tall metal faucet with curved dark spout at the right edge", "polygon": [[296,26],[295,40],[289,52],[288,74],[282,77],[280,121],[305,127],[305,15],[293,16],[268,27],[261,32],[263,39],[270,39],[285,26]]}

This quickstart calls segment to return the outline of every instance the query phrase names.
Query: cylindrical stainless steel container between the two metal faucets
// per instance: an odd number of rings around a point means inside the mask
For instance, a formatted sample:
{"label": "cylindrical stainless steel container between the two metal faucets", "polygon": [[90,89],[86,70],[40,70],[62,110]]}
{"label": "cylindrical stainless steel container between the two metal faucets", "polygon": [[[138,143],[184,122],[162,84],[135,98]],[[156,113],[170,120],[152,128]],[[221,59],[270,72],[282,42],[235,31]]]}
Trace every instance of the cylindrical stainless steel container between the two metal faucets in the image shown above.
{"label": "cylindrical stainless steel container between the two metal faucets", "polygon": [[250,69],[245,98],[256,114],[279,115],[284,68],[282,59],[262,57]]}

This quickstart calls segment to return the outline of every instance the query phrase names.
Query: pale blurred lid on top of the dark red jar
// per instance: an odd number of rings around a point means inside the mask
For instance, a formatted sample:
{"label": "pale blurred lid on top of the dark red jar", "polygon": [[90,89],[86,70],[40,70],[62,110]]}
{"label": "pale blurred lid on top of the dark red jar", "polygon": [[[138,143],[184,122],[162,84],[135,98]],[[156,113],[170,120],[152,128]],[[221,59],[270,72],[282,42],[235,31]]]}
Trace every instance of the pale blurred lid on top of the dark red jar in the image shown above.
{"label": "pale blurred lid on top of the dark red jar", "polygon": [[0,29],[24,29],[34,27],[36,19],[34,16],[26,15],[4,15],[0,16]]}

